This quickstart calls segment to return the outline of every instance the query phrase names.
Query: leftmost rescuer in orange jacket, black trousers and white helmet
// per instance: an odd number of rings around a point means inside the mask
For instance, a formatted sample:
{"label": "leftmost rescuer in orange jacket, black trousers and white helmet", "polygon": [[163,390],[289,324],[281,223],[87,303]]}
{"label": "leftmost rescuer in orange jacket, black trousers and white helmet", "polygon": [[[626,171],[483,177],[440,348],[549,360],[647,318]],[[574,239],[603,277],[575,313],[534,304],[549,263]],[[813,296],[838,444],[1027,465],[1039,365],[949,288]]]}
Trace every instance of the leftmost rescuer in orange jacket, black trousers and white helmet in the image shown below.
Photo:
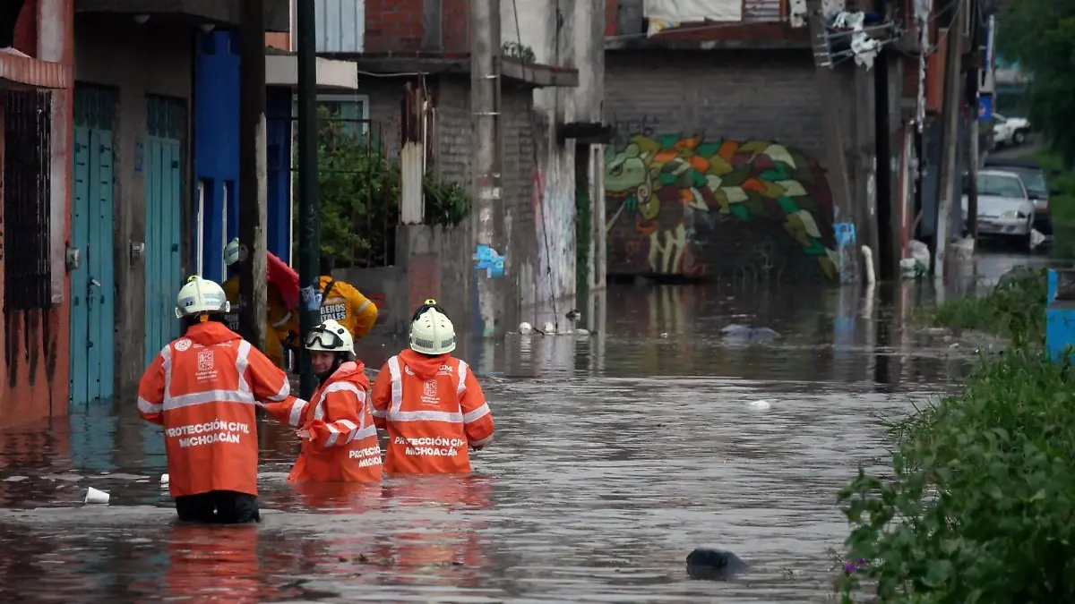
{"label": "leftmost rescuer in orange jacket, black trousers and white helmet", "polygon": [[255,402],[298,401],[284,372],[221,322],[229,310],[219,285],[187,279],[175,307],[183,336],[139,383],[139,415],[164,429],[169,489],[183,521],[260,521]]}

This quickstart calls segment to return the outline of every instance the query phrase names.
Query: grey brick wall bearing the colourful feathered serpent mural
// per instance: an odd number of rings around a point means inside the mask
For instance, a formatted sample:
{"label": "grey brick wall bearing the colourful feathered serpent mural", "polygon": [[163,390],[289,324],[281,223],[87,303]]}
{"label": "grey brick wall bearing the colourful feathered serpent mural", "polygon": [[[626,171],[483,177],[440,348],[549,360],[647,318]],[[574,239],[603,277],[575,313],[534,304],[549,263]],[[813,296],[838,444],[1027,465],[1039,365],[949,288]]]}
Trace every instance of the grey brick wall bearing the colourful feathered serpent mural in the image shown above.
{"label": "grey brick wall bearing the colourful feathered serpent mural", "polygon": [[808,53],[608,53],[605,95],[610,274],[838,278]]}

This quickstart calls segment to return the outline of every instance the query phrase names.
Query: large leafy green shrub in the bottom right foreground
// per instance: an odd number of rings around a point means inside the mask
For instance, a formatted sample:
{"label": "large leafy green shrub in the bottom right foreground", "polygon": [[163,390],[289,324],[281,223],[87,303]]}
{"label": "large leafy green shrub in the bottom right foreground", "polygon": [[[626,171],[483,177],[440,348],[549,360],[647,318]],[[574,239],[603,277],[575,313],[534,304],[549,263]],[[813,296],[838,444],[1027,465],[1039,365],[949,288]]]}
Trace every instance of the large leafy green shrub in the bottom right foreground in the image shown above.
{"label": "large leafy green shrub in the bottom right foreground", "polygon": [[1017,350],[962,396],[891,426],[891,476],[859,471],[840,501],[843,601],[1075,602],[1075,396],[1070,365]]}

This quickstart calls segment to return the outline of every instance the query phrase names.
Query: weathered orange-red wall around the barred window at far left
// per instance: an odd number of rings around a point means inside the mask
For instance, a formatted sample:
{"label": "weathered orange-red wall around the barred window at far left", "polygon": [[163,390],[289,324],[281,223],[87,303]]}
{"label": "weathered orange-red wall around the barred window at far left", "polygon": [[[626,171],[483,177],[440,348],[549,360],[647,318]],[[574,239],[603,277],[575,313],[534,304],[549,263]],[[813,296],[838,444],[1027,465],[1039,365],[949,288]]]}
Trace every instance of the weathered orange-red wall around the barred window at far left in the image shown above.
{"label": "weathered orange-red wall around the barred window at far left", "polygon": [[[74,63],[72,0],[51,0],[39,2],[29,0],[19,14],[16,24],[16,45],[30,56],[39,56],[39,31],[41,23],[60,19],[66,40],[62,61]],[[2,109],[2,106],[0,106]],[[71,89],[54,91],[53,136],[62,136],[66,144],[62,153],[53,155],[53,161],[62,162],[71,178],[70,149],[73,143],[71,125]],[[0,111],[0,183],[3,182],[3,112]],[[55,150],[55,147],[54,147]],[[54,185],[55,186],[55,185]],[[60,184],[63,186],[63,184]],[[52,226],[52,236],[70,239],[71,215],[70,187],[66,187],[63,224]],[[3,207],[3,188],[0,187],[0,213]],[[6,227],[8,225],[4,225]],[[0,274],[3,271],[0,255]],[[0,337],[3,340],[3,355],[0,355],[0,428],[25,423],[48,416],[68,414],[68,380],[70,359],[70,320],[68,300],[71,283],[67,274],[63,278],[63,300],[46,311],[10,312],[4,310],[0,321]],[[0,300],[3,298],[3,279],[0,278]]]}

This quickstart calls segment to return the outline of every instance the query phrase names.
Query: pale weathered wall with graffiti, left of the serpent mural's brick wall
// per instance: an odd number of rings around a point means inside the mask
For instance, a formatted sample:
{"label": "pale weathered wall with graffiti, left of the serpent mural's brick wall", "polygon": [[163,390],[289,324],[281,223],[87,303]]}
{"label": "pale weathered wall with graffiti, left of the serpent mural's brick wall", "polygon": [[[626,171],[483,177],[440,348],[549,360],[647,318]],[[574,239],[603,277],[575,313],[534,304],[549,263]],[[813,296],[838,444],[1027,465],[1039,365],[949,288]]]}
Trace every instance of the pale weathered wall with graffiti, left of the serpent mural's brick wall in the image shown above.
{"label": "pale weathered wall with graffiti, left of the serpent mural's brick wall", "polygon": [[[575,304],[575,145],[557,142],[557,125],[601,120],[604,82],[603,0],[501,0],[501,41],[529,46],[539,63],[577,69],[577,88],[534,90],[535,146],[538,148],[535,203],[538,274],[534,275],[538,325],[564,323],[564,313]],[[594,230],[603,233],[603,153],[589,153],[587,172]],[[604,286],[604,238],[589,253],[592,284]],[[600,262],[599,262],[600,260]],[[557,299],[554,316],[551,300]]]}

